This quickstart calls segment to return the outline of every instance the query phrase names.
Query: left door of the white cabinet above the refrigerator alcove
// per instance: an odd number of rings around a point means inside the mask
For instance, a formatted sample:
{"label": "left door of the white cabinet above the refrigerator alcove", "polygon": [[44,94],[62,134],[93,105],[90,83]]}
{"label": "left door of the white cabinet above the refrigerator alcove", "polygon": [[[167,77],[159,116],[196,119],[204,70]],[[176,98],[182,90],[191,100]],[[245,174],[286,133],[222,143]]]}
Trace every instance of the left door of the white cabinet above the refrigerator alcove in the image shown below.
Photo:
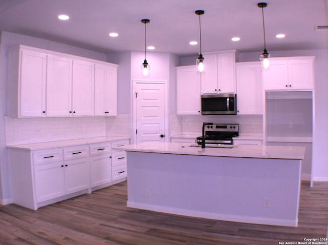
{"label": "left door of the white cabinet above the refrigerator alcove", "polygon": [[270,68],[263,69],[263,87],[265,90],[288,89],[288,62],[271,59]]}

